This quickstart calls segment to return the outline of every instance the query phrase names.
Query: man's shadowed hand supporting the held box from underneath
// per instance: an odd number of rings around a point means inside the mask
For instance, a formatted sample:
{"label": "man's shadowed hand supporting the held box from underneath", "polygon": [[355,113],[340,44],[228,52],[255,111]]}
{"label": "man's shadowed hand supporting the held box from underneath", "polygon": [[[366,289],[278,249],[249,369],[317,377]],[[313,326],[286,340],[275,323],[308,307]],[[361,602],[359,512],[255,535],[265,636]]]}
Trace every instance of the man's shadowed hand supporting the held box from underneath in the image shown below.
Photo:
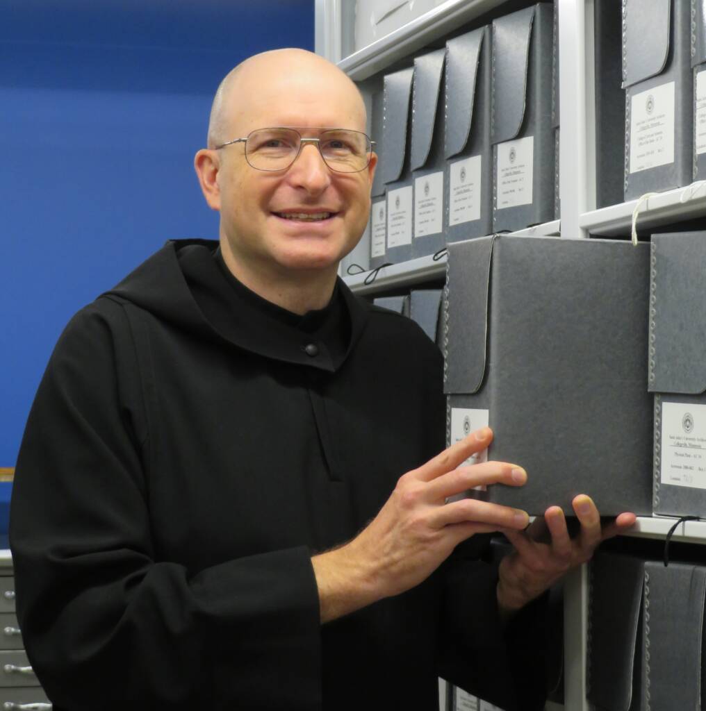
{"label": "man's shadowed hand supporting the held box from underneath", "polygon": [[636,521],[635,514],[621,513],[613,523],[601,528],[599,511],[585,494],[576,496],[571,506],[581,526],[575,538],[569,536],[567,520],[559,506],[549,507],[544,518],[538,516],[525,531],[503,531],[515,550],[500,562],[497,602],[501,616],[512,614],[539,597],[569,570],[591,560],[601,542],[623,533]]}

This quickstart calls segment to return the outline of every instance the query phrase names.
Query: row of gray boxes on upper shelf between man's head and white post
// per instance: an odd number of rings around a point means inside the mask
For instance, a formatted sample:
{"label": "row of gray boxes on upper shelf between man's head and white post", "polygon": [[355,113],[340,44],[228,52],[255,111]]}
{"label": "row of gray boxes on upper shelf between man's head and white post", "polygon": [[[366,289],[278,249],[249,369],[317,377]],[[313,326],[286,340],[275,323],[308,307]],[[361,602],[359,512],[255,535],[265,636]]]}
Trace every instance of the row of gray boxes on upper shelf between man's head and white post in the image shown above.
{"label": "row of gray boxes on upper shelf between man's head and white post", "polygon": [[555,19],[532,5],[383,77],[370,267],[554,218]]}

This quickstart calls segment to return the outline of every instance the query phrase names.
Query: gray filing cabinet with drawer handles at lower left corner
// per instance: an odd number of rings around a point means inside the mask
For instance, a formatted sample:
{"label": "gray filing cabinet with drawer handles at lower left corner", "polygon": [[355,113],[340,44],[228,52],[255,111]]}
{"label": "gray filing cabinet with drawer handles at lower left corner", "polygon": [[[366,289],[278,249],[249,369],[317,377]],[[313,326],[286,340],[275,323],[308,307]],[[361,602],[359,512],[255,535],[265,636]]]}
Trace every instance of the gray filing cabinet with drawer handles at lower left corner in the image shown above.
{"label": "gray filing cabinet with drawer handles at lower left corner", "polygon": [[15,578],[9,550],[0,550],[0,711],[49,711],[24,651],[15,614]]}

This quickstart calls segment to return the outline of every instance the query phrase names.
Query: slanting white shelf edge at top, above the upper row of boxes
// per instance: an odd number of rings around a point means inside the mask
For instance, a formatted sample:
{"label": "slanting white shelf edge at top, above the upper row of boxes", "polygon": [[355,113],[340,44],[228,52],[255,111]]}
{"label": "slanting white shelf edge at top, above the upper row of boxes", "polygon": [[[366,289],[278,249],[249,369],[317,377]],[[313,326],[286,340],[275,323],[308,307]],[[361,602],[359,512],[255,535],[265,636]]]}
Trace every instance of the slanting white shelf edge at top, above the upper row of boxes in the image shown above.
{"label": "slanting white shelf edge at top, above the upper row of boxes", "polygon": [[460,25],[501,6],[504,1],[446,0],[404,27],[342,59],[338,65],[352,80],[362,81],[448,35]]}

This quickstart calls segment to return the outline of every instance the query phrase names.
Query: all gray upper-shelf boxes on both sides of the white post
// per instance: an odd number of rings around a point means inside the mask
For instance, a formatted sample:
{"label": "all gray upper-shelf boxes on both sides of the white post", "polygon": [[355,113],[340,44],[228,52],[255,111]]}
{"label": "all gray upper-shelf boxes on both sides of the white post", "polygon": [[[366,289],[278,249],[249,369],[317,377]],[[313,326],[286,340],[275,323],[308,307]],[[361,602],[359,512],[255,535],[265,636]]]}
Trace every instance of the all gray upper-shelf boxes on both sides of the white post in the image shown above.
{"label": "all gray upper-shelf boxes on both sides of the white post", "polygon": [[[364,266],[559,217],[558,7],[497,18],[384,75]],[[706,7],[596,0],[594,11],[598,207],[703,179]]]}

